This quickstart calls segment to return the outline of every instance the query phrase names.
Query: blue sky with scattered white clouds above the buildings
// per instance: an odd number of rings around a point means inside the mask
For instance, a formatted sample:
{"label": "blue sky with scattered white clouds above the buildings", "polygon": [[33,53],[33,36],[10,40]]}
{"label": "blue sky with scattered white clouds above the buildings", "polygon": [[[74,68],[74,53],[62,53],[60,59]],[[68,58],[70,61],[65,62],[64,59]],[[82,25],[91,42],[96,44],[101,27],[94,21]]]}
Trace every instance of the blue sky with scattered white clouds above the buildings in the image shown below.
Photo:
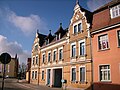
{"label": "blue sky with scattered white clouds above the buildings", "polygon": [[[111,0],[79,0],[79,4],[93,12]],[[69,27],[76,0],[0,0],[0,55],[17,54],[20,63],[27,63],[35,33],[52,34],[60,23]]]}

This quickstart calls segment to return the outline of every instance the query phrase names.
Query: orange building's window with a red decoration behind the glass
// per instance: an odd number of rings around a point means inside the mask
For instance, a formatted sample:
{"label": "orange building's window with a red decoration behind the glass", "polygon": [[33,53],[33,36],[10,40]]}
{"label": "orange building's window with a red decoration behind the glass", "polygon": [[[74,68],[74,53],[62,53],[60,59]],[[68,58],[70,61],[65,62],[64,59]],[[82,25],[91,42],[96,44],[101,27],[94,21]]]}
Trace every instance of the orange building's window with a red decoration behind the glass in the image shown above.
{"label": "orange building's window with a red decoration behind the glass", "polygon": [[109,48],[109,46],[108,46],[108,35],[107,34],[99,36],[98,39],[99,39],[99,49],[100,50],[104,50],[104,49]]}

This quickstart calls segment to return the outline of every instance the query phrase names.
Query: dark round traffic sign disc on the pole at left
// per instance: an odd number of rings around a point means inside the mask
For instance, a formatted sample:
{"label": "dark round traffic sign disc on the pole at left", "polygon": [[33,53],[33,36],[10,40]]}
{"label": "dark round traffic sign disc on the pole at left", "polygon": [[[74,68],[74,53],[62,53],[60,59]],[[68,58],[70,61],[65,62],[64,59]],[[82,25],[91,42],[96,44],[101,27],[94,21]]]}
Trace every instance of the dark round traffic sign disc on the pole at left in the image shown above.
{"label": "dark round traffic sign disc on the pole at left", "polygon": [[0,61],[2,64],[8,64],[11,61],[11,56],[8,53],[2,53]]}

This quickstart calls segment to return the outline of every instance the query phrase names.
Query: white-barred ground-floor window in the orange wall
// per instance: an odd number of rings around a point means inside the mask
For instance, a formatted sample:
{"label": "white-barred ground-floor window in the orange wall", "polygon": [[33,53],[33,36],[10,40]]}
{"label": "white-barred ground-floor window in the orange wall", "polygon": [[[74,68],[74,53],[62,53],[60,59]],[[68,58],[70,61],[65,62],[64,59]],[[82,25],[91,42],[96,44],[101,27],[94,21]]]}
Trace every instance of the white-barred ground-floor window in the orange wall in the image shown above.
{"label": "white-barred ground-floor window in the orange wall", "polygon": [[100,81],[110,80],[110,65],[101,65],[100,69]]}

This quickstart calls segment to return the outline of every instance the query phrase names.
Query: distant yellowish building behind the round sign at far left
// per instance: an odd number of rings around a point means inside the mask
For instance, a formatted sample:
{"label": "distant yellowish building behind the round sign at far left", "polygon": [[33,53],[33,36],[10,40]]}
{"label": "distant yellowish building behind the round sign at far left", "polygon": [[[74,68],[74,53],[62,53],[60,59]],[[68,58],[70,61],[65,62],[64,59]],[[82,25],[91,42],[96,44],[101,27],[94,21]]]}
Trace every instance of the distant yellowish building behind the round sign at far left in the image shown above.
{"label": "distant yellowish building behind the round sign at far left", "polygon": [[[6,64],[6,77],[9,78],[17,78],[18,75],[18,59],[17,56],[15,58],[11,58],[10,63]],[[4,65],[0,62],[0,76],[3,76]]]}

